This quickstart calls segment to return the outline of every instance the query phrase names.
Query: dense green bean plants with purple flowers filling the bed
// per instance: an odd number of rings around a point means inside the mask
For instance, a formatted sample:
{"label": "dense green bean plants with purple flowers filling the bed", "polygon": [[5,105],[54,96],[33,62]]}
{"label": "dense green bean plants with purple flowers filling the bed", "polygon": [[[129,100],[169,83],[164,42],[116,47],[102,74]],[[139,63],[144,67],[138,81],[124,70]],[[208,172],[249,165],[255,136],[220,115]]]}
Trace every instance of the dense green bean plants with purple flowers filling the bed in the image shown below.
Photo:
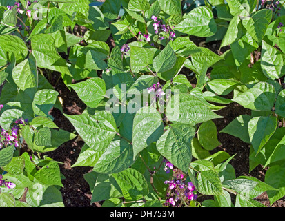
{"label": "dense green bean plants with purple flowers filling the bed", "polygon": [[[0,0],[1,207],[64,206],[62,162],[47,153],[74,139],[90,204],[262,207],[262,193],[271,205],[285,195],[285,1],[198,2]],[[52,73],[81,114],[64,113]],[[217,131],[234,102],[250,115]],[[236,177],[217,133],[249,144],[264,181]]]}

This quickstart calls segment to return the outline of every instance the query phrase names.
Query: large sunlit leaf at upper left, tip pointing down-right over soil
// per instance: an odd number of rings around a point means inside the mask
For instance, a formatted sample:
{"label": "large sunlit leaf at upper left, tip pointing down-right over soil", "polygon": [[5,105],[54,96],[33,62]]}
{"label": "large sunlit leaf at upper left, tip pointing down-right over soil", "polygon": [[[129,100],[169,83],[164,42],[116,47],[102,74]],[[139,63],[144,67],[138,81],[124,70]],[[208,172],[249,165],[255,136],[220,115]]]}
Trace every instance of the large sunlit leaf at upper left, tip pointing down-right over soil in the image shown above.
{"label": "large sunlit leaf at upper left, tip pointing down-right over soil", "polygon": [[50,34],[33,35],[32,55],[34,55],[39,68],[55,70],[70,75],[66,61],[59,55],[55,48],[55,39]]}

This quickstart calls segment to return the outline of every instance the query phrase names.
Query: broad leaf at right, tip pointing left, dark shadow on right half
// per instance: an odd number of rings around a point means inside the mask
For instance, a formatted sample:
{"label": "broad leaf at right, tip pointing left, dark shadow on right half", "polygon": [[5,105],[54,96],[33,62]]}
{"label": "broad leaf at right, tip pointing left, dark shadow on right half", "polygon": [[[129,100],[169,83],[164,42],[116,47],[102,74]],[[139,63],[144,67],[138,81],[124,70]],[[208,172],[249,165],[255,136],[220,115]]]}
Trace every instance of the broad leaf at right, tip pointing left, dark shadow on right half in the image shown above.
{"label": "broad leaf at right, tip pointing left, dark shadow on right half", "polygon": [[233,101],[250,110],[271,111],[275,103],[275,88],[272,84],[259,82]]}

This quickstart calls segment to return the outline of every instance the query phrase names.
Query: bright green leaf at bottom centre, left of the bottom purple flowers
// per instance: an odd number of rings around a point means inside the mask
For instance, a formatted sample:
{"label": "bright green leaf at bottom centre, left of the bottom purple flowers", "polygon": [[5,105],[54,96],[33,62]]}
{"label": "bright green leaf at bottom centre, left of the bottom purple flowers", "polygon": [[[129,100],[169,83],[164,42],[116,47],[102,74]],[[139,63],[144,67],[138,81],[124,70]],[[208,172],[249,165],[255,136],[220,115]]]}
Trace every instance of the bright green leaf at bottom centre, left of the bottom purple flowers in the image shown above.
{"label": "bright green leaf at bottom centre, left of the bottom purple flowers", "polygon": [[148,184],[139,171],[128,168],[112,176],[117,181],[126,200],[141,200],[148,194]]}

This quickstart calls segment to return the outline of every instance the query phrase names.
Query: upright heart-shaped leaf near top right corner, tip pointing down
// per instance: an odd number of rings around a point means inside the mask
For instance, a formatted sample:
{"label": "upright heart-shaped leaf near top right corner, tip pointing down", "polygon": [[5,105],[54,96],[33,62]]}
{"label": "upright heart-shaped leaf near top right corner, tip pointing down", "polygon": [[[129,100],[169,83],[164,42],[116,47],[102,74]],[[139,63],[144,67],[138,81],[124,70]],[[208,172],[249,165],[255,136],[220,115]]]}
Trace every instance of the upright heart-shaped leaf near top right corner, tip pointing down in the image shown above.
{"label": "upright heart-shaped leaf near top right corner, tip pointing down", "polygon": [[242,19],[242,25],[248,33],[260,43],[266,32],[266,28],[272,19],[272,11],[267,9],[258,10],[252,17]]}

